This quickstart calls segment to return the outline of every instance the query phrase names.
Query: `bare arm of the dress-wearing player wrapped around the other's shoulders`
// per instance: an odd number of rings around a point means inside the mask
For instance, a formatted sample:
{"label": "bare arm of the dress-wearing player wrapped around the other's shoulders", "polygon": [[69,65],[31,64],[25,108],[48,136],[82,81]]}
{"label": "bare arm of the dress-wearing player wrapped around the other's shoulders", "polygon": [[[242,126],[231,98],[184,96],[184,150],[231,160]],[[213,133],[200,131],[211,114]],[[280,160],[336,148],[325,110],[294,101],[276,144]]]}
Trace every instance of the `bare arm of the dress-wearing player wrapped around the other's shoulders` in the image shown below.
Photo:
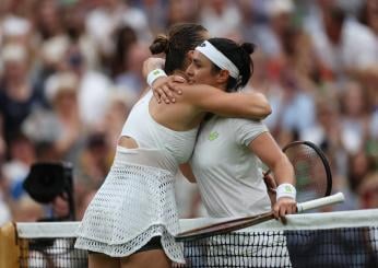
{"label": "bare arm of the dress-wearing player wrapped around the other's shoulders", "polygon": [[258,92],[227,93],[204,84],[181,84],[180,88],[182,98],[200,112],[257,120],[263,119],[272,113],[267,97]]}

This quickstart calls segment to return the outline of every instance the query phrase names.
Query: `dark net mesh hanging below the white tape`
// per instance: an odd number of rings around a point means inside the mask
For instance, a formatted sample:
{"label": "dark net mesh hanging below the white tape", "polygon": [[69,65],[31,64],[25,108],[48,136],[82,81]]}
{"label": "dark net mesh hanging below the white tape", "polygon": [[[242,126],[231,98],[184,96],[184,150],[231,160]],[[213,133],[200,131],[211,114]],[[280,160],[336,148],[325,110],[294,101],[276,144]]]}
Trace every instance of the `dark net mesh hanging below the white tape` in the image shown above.
{"label": "dark net mesh hanging below the white tape", "polygon": [[[20,238],[21,267],[87,267],[74,238]],[[378,267],[378,228],[239,232],[185,243],[173,267]]]}

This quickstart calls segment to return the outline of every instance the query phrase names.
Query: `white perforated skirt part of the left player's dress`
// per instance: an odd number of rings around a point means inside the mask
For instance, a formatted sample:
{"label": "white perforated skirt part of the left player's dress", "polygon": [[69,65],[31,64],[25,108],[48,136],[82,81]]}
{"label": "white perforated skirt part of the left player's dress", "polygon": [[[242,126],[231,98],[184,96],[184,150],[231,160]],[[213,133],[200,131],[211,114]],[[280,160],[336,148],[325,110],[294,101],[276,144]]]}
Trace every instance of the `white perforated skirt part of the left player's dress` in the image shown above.
{"label": "white perforated skirt part of the left player's dress", "polygon": [[[76,248],[126,257],[153,236],[161,236],[165,254],[185,263],[174,190],[174,166],[164,153],[149,149],[118,149],[114,164],[85,211]],[[164,166],[164,168],[162,167]]]}

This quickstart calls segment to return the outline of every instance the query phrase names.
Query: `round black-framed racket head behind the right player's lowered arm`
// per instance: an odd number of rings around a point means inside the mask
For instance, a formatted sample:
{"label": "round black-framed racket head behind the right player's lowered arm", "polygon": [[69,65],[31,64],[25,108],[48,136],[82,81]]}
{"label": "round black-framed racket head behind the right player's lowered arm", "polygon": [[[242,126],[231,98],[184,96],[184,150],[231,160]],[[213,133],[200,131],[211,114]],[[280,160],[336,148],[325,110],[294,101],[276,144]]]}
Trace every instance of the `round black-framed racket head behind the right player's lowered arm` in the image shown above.
{"label": "round black-framed racket head behind the right player's lowered arm", "polygon": [[[294,167],[298,202],[331,195],[332,173],[324,153],[310,141],[293,141],[282,151]],[[265,172],[269,174],[270,170]],[[275,191],[275,189],[269,189]]]}

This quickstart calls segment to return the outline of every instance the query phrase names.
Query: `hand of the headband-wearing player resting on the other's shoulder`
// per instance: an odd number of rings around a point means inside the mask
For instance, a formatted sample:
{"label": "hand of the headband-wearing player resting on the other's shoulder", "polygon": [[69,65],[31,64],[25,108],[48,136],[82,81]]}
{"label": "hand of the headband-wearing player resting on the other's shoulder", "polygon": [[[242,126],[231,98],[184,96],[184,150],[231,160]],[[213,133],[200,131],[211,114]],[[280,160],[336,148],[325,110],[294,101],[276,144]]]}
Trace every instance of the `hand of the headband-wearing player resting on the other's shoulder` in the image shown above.
{"label": "hand of the headband-wearing player resting on the other's shoulder", "polygon": [[179,89],[178,83],[185,83],[186,80],[180,75],[169,75],[167,78],[158,78],[152,84],[152,91],[158,103],[166,104],[176,102],[176,94],[181,95],[182,91]]}

